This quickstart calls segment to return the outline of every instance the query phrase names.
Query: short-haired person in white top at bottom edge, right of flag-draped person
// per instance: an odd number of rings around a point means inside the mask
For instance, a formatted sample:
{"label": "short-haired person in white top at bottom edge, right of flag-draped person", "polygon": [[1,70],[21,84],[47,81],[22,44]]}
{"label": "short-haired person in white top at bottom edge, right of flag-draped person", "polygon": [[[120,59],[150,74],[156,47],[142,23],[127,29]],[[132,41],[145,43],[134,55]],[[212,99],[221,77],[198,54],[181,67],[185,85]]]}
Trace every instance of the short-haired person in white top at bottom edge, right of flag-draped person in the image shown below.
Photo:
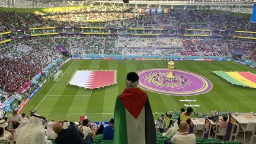
{"label": "short-haired person in white top at bottom edge, right of flag-draped person", "polygon": [[165,140],[164,144],[196,144],[196,136],[191,133],[188,134],[188,124],[187,121],[181,121],[179,130],[172,137],[171,140]]}

